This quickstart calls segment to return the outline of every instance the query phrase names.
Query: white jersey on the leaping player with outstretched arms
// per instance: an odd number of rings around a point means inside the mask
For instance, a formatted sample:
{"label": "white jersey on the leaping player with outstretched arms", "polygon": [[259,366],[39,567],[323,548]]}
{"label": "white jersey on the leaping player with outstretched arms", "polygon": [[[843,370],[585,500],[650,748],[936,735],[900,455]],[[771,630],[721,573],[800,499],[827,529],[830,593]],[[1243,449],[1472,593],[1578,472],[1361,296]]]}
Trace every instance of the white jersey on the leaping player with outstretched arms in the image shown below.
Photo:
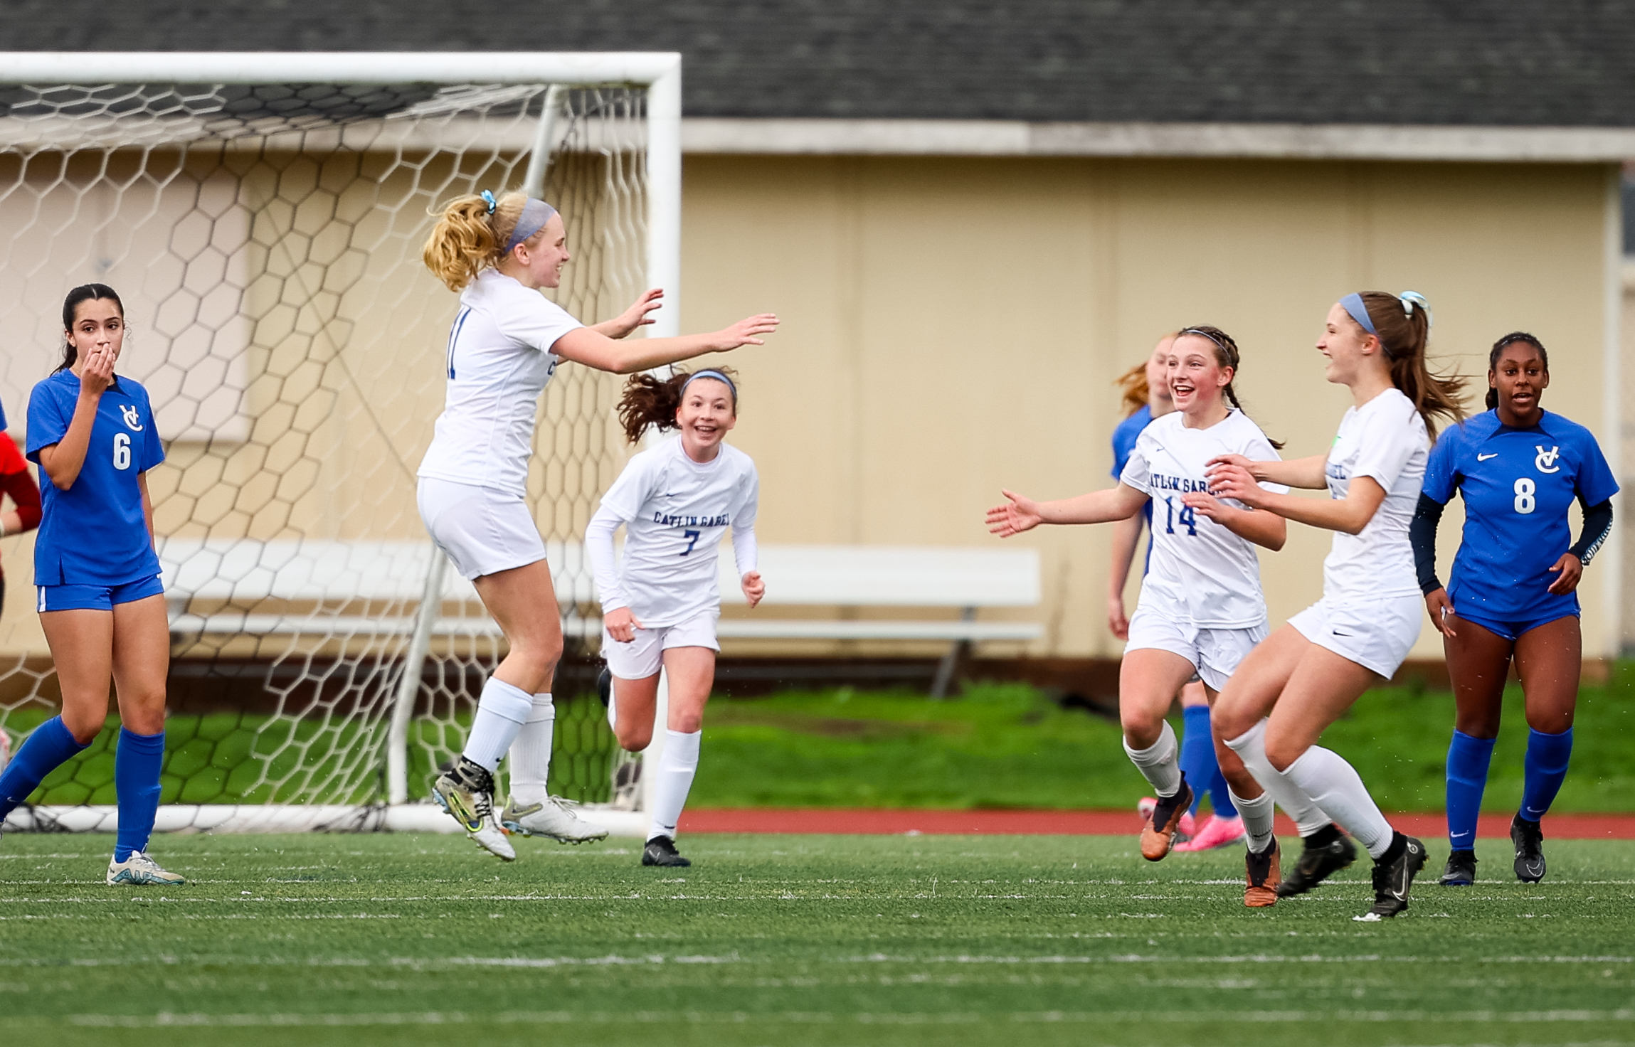
{"label": "white jersey on the leaping player with outstretched arms", "polygon": [[448,395],[422,477],[528,493],[528,456],[540,394],[556,372],[551,346],[582,327],[499,270],[459,294],[448,333]]}

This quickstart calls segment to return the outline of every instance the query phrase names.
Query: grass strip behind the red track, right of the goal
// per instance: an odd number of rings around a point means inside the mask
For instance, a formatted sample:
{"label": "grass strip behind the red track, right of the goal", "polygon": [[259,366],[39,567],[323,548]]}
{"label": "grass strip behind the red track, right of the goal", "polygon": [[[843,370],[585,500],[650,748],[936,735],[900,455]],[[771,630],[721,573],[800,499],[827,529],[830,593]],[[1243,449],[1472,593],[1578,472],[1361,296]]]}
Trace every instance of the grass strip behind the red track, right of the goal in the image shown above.
{"label": "grass strip behind the red track, right of the goal", "polygon": [[[1506,694],[1485,809],[1514,810],[1527,720]],[[1176,732],[1182,725],[1177,719]],[[1442,810],[1454,696],[1380,688],[1323,743],[1351,760],[1385,810]],[[1573,771],[1558,812],[1635,810],[1635,671],[1579,693]],[[1020,684],[955,701],[881,691],[713,701],[697,807],[1133,807],[1148,792],[1118,727]]]}

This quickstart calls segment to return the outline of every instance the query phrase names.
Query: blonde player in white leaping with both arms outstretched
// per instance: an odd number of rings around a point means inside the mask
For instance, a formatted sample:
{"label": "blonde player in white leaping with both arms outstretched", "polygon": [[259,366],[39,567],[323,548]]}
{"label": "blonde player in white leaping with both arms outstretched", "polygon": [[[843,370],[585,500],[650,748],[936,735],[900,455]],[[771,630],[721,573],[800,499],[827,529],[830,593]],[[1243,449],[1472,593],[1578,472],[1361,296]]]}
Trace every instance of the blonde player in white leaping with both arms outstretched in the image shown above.
{"label": "blonde player in white leaping with both arms outstretched", "polygon": [[562,624],[525,500],[540,395],[561,361],[629,374],[762,345],[778,319],[762,314],[708,335],[620,343],[652,322],[647,314],[664,294],[654,289],[620,317],[585,327],[540,294],[561,283],[567,232],[554,207],[523,193],[451,201],[422,256],[459,291],[459,314],[448,335],[448,397],[420,462],[420,519],[473,581],[508,645],[482,686],[464,751],[432,792],[479,846],[512,861],[517,854],[492,809],[494,771],[507,751],[512,797],[502,820],[512,831],[564,843],[607,835],[546,794]]}

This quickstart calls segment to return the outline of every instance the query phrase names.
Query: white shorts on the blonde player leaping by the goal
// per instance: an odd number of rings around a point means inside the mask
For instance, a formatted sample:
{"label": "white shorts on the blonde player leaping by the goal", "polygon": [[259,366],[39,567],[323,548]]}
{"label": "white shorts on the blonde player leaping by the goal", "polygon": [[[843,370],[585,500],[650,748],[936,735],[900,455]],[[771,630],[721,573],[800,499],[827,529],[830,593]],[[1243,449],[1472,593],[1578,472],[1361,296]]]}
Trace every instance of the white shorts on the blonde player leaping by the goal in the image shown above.
{"label": "white shorts on the blonde player leaping by the goal", "polygon": [[432,542],[466,580],[544,559],[544,541],[522,495],[420,477],[415,505]]}

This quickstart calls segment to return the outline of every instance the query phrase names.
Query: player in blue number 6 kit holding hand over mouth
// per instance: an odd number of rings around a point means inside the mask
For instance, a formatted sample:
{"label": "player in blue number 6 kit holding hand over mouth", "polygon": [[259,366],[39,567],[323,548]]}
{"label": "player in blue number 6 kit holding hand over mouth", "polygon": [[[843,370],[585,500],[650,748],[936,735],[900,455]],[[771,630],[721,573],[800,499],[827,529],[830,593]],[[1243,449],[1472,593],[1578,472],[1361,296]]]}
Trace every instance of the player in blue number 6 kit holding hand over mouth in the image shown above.
{"label": "player in blue number 6 kit holding hand over mouth", "polygon": [[119,699],[114,786],[119,835],[110,884],[175,885],[146,854],[165,758],[165,621],[147,470],[165,461],[147,390],[114,374],[124,305],[83,284],[62,304],[62,366],[28,400],[28,457],[44,479],[34,542],[39,624],[57,666],[62,712],[41,724],[0,773],[0,818],[90,745]]}

